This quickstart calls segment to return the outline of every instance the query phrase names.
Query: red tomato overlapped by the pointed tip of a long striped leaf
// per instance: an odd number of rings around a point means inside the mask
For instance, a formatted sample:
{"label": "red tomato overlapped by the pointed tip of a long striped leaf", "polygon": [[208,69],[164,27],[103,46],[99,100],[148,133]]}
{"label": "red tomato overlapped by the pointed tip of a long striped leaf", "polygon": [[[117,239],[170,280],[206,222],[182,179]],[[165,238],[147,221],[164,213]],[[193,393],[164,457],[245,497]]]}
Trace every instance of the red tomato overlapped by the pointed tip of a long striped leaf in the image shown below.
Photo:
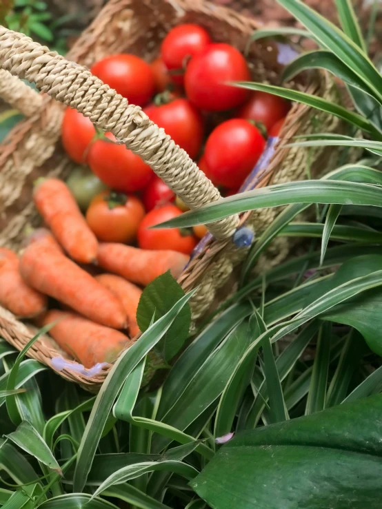
{"label": "red tomato overlapped by the pointed tip of a long striped leaf", "polygon": [[149,229],[159,222],[176,218],[182,212],[175,205],[164,205],[152,209],[141,221],[138,229],[138,244],[141,249],[172,249],[190,254],[197,245],[192,230],[179,228]]}

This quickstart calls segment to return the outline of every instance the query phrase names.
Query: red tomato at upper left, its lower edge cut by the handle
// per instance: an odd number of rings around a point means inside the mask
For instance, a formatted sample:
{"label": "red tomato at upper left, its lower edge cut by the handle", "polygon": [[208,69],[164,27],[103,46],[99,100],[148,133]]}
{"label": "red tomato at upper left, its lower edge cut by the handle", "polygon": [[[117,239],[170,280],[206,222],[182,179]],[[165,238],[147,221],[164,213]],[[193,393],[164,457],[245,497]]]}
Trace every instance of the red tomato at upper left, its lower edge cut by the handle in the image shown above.
{"label": "red tomato at upper left, its lower edge cut by the handle", "polygon": [[90,71],[121,96],[137,106],[143,106],[155,92],[154,73],[148,63],[131,54],[106,56]]}

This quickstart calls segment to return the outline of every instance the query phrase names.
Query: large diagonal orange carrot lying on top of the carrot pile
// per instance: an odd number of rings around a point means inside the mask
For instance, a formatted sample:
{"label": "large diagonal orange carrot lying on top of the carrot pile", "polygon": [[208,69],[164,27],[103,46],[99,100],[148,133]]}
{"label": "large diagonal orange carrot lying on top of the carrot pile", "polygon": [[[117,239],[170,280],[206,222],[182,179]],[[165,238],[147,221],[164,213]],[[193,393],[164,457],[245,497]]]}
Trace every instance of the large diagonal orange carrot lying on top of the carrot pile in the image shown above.
{"label": "large diagonal orange carrot lying on top of the carrot pile", "polygon": [[54,247],[34,242],[20,258],[20,272],[32,288],[50,295],[102,325],[125,329],[121,302],[90,274]]}

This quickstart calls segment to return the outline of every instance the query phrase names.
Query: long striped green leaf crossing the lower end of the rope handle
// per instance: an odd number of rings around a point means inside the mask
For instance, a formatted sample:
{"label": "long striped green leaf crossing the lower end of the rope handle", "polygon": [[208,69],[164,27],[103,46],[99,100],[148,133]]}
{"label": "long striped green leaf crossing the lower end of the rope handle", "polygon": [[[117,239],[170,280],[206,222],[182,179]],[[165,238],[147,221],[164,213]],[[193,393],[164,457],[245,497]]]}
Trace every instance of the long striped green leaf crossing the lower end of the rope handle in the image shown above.
{"label": "long striped green leaf crossing the lower end of the rope handle", "polygon": [[177,218],[163,222],[161,227],[189,227],[214,222],[248,210],[307,202],[381,207],[381,189],[370,184],[338,180],[304,180],[275,184],[223,198],[216,202],[216,205],[204,205],[198,210],[184,212]]}

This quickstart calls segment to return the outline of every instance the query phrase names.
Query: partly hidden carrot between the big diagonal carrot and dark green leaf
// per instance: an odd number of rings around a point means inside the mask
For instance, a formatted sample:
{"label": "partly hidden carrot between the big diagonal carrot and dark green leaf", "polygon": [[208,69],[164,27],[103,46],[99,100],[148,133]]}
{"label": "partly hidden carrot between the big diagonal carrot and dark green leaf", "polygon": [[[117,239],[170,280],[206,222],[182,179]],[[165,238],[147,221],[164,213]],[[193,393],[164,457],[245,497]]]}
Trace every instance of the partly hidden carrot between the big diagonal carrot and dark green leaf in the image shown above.
{"label": "partly hidden carrot between the big diagonal carrot and dark green leaf", "polygon": [[142,290],[135,284],[126,281],[115,274],[100,274],[95,277],[98,282],[108,288],[122,302],[123,309],[128,316],[128,331],[131,337],[139,333],[137,324],[137,307]]}

